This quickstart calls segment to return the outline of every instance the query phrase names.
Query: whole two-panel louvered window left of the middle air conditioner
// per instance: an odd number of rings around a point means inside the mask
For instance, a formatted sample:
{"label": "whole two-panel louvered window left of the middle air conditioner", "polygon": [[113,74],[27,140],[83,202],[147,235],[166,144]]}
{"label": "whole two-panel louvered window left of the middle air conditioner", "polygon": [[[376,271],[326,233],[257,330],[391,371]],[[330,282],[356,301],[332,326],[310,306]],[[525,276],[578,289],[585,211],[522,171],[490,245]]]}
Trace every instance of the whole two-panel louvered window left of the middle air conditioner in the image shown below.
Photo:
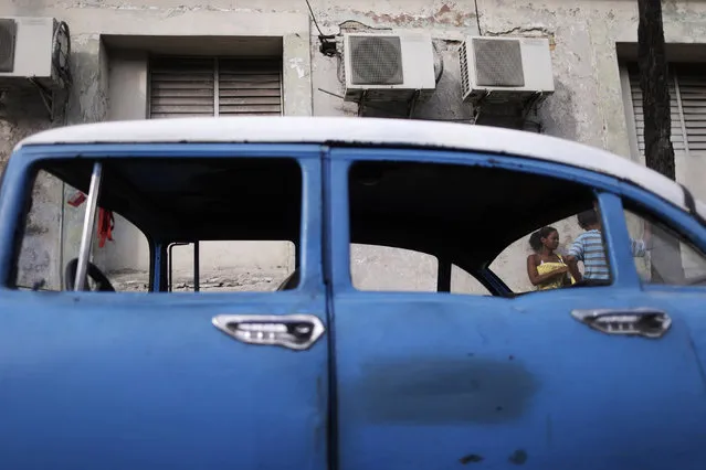
{"label": "whole two-panel louvered window left of the middle air conditioner", "polygon": [[155,57],[149,117],[282,114],[280,58]]}

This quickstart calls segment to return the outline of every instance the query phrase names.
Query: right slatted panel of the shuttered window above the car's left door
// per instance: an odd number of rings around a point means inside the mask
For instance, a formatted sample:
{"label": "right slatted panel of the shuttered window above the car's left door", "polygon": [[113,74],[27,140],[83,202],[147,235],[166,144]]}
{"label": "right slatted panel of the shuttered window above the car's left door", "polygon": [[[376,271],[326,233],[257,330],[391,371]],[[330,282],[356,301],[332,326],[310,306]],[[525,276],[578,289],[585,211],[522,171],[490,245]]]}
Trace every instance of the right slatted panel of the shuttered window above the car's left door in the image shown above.
{"label": "right slatted panel of the shuttered window above the car's left door", "polygon": [[222,58],[218,66],[219,116],[282,114],[278,58]]}

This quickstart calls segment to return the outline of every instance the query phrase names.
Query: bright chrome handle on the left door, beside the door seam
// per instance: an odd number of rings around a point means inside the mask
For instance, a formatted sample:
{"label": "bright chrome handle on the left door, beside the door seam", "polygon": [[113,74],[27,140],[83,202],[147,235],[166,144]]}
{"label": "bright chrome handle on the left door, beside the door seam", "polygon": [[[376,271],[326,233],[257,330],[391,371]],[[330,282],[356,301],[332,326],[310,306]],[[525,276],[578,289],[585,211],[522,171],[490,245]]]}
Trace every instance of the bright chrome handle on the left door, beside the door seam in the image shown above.
{"label": "bright chrome handle on the left door, beside the door seam", "polygon": [[324,322],[313,314],[219,314],[213,317],[212,323],[243,343],[297,351],[309,349],[325,331]]}

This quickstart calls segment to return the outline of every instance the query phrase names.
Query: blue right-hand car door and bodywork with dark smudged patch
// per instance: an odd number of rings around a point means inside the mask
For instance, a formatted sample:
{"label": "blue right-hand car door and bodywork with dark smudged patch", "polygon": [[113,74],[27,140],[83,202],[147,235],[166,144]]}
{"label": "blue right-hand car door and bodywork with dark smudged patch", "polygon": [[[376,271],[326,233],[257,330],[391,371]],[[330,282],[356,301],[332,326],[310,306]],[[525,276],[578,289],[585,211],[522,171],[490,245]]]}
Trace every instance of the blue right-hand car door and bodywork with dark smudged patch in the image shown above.
{"label": "blue right-hand car door and bodywork with dark smudged patch", "polygon": [[[452,156],[334,149],[330,186],[346,188],[350,163],[366,160],[436,163]],[[693,323],[704,322],[706,293],[643,290],[629,244],[620,243],[629,235],[619,195],[681,221],[700,246],[704,227],[608,177],[494,156],[468,160],[601,191],[614,281],[516,298],[358,291],[348,195],[331,191],[339,468],[702,468],[706,450],[694,436],[706,429],[706,337],[695,337]],[[658,340],[608,335],[570,316],[639,307],[668,312],[671,331]]]}

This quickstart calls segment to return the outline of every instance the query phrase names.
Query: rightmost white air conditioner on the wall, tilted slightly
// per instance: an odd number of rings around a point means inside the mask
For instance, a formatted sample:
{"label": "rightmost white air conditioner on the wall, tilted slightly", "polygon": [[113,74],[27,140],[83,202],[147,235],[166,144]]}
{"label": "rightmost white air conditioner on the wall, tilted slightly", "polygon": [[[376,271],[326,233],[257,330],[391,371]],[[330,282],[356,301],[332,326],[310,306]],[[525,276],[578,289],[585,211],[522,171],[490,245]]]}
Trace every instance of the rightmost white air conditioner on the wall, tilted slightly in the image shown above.
{"label": "rightmost white air conditioner on the wall, tilted slightly", "polygon": [[521,102],[554,93],[549,40],[467,38],[461,45],[463,100]]}

